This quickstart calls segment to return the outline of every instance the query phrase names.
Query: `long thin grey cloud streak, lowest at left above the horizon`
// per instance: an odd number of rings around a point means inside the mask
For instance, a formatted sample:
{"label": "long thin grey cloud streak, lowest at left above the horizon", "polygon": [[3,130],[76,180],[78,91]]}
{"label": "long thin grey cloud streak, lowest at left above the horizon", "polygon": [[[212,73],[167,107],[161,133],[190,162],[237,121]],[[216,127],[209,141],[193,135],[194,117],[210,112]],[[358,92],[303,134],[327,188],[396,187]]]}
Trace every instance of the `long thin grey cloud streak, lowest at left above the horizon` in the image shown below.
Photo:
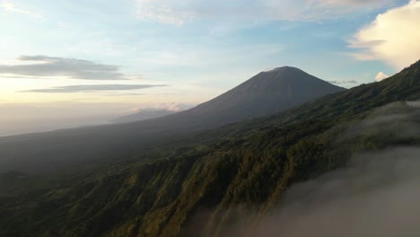
{"label": "long thin grey cloud streak, lowest at left above the horizon", "polygon": [[152,87],[167,86],[163,84],[84,84],[56,86],[46,89],[35,89],[22,92],[43,92],[43,93],[73,93],[73,92],[109,92],[147,89]]}

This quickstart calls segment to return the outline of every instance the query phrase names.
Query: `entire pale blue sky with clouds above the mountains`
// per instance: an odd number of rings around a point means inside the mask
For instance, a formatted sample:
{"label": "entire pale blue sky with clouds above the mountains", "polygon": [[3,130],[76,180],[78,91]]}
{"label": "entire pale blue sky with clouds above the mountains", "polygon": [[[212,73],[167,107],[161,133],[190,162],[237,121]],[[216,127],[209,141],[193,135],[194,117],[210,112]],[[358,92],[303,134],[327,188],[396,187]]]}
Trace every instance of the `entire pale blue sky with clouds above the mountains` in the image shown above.
{"label": "entire pale blue sky with clouds above the mountains", "polygon": [[0,0],[0,136],[193,106],[277,66],[381,81],[420,59],[418,25],[416,0]]}

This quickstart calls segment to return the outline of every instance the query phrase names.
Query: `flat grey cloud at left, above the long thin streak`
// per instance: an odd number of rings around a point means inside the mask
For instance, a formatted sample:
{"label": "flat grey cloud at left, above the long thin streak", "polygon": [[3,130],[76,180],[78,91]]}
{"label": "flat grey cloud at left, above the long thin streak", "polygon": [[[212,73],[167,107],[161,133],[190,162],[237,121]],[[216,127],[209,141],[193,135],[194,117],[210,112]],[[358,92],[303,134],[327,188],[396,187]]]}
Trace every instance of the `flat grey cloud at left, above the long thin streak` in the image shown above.
{"label": "flat grey cloud at left, above the long thin streak", "polygon": [[84,80],[127,79],[126,75],[119,72],[119,66],[98,64],[88,60],[48,56],[22,56],[17,59],[29,64],[0,65],[0,75],[33,78],[64,76]]}

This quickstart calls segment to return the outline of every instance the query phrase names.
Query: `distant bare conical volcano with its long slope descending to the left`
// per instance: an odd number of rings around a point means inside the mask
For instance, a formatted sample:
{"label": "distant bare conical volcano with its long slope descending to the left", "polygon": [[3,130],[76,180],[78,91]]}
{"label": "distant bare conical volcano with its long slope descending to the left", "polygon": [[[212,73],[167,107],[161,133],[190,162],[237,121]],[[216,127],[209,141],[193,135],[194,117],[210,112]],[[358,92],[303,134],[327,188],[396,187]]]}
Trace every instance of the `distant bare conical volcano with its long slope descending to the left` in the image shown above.
{"label": "distant bare conical volcano with its long slope descending to the left", "polygon": [[342,90],[297,68],[281,67],[260,73],[196,108],[162,118],[0,138],[0,172],[89,169],[156,145],[173,144],[192,131],[286,110]]}

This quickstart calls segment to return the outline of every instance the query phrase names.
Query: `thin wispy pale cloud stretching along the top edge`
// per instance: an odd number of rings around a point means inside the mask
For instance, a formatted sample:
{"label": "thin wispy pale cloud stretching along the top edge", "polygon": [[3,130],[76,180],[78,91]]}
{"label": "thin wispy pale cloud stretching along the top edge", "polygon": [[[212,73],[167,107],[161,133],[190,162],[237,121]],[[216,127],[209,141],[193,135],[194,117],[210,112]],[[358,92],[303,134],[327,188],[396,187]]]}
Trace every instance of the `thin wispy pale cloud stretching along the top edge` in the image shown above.
{"label": "thin wispy pale cloud stretching along the top edge", "polygon": [[389,7],[395,0],[136,0],[137,17],[181,26],[195,18],[318,21]]}

